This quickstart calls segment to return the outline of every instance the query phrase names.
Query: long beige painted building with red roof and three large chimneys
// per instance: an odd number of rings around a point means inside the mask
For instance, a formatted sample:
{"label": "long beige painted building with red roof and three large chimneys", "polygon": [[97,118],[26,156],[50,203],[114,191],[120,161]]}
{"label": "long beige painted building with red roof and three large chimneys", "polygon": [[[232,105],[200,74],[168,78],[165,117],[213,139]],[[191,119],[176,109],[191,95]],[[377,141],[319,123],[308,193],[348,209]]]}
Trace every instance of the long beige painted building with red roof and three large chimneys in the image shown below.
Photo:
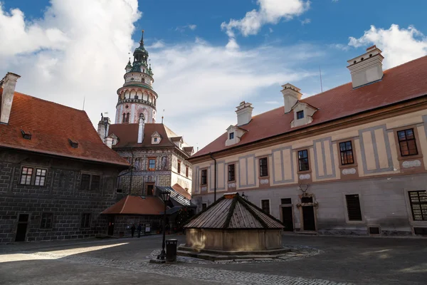
{"label": "long beige painted building with red roof and three large chimneys", "polygon": [[427,234],[427,56],[383,71],[371,46],[348,61],[352,82],[252,116],[190,158],[199,209],[244,192],[285,231]]}

